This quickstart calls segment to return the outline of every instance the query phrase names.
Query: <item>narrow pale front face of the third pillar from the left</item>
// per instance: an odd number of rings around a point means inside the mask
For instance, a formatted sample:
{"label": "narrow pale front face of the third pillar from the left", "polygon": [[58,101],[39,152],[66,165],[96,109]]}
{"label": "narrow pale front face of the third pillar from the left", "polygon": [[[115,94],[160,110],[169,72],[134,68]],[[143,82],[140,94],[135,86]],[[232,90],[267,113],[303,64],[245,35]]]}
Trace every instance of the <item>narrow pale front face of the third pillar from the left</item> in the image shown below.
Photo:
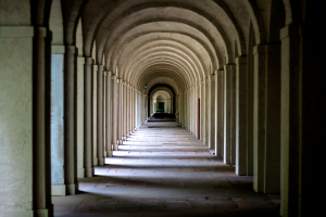
{"label": "narrow pale front face of the third pillar from the left", "polygon": [[77,94],[76,94],[76,142],[77,142],[77,178],[85,177],[84,166],[84,66],[85,58],[77,58]]}

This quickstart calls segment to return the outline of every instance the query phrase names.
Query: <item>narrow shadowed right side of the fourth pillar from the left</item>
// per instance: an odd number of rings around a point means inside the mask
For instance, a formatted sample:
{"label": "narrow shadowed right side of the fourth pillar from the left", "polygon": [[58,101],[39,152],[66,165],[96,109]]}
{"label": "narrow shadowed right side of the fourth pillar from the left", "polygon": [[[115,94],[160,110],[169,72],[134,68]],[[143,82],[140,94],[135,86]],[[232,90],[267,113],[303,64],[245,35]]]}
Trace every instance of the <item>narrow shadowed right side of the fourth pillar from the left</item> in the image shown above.
{"label": "narrow shadowed right side of the fourth pillar from the left", "polygon": [[98,66],[97,72],[97,145],[98,165],[104,165],[104,144],[103,144],[103,66]]}

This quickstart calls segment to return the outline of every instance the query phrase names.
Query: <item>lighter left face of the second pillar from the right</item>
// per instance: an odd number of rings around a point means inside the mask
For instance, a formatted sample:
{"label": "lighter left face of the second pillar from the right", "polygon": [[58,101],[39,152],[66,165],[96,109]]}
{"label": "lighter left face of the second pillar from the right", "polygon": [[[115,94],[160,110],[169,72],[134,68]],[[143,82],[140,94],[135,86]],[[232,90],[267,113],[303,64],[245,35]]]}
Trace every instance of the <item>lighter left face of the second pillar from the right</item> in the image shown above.
{"label": "lighter left face of the second pillar from the right", "polygon": [[253,190],[264,192],[266,143],[266,46],[253,48]]}

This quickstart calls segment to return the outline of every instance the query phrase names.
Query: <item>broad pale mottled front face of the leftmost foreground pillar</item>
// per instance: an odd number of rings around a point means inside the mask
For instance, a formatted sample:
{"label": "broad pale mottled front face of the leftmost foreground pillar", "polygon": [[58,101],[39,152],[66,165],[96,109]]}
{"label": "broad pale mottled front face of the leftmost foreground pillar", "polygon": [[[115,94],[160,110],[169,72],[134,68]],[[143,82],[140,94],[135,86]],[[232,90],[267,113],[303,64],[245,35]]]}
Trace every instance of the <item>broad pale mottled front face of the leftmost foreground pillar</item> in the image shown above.
{"label": "broad pale mottled front face of the leftmost foreground pillar", "polygon": [[[2,18],[3,14],[0,14]],[[0,34],[2,33],[4,30],[0,27]],[[1,37],[0,35],[0,210],[30,210],[33,43],[32,38]]]}

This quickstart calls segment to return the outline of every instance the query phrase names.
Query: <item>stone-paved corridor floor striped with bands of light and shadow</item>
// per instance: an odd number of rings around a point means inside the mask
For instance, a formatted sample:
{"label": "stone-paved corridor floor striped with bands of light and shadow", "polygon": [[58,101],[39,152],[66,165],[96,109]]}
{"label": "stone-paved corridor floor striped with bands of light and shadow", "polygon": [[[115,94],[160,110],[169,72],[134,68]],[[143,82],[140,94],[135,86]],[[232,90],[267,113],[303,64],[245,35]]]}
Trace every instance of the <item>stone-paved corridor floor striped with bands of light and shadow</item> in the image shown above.
{"label": "stone-paved corridor floor striped with bands of light and shadow", "polygon": [[52,197],[55,216],[279,216],[279,195],[254,193],[177,123],[145,124],[113,155],[79,194]]}

